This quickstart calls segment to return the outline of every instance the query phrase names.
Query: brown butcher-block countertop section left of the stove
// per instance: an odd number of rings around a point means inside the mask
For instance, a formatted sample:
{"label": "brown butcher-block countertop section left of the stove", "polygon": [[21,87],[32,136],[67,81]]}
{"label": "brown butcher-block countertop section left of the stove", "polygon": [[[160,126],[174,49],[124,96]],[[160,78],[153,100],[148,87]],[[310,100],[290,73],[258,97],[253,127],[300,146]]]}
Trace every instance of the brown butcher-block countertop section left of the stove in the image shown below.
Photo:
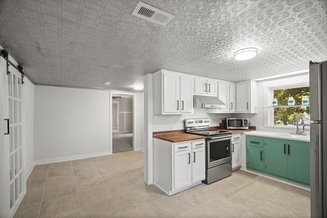
{"label": "brown butcher-block countertop section left of the stove", "polygon": [[153,138],[158,138],[171,142],[181,142],[181,141],[197,140],[206,137],[201,135],[184,133],[183,130],[173,130],[173,131],[164,131],[164,132],[154,132]]}

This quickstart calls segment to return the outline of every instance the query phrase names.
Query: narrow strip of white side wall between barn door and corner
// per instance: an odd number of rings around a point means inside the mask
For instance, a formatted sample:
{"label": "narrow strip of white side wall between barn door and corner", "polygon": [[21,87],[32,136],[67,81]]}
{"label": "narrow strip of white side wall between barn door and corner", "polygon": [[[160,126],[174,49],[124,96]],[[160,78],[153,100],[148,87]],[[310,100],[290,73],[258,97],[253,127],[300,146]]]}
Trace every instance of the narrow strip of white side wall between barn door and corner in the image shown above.
{"label": "narrow strip of white side wall between barn door and corner", "polygon": [[25,150],[26,173],[34,167],[34,94],[35,85],[26,77],[22,85],[23,146]]}

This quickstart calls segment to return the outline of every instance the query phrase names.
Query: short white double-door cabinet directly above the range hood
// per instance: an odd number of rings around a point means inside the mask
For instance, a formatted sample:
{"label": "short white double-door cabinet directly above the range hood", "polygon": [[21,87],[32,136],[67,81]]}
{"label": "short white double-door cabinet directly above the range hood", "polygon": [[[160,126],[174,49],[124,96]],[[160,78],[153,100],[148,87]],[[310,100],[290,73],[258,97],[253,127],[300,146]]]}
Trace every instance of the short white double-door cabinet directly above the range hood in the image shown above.
{"label": "short white double-door cabinet directly above the range hood", "polygon": [[194,93],[217,96],[217,80],[196,77]]}

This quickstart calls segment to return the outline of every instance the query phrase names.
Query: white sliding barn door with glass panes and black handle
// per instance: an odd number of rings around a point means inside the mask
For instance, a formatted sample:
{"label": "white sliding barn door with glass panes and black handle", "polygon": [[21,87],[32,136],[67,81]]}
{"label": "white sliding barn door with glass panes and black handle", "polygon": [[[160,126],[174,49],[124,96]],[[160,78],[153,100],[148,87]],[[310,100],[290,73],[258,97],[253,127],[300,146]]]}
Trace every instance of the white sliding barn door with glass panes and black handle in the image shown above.
{"label": "white sliding barn door with glass panes and black handle", "polygon": [[22,147],[22,84],[20,72],[1,59],[1,91],[3,103],[4,133],[3,151],[0,154],[2,193],[0,195],[0,215],[13,217],[26,193],[24,151]]}

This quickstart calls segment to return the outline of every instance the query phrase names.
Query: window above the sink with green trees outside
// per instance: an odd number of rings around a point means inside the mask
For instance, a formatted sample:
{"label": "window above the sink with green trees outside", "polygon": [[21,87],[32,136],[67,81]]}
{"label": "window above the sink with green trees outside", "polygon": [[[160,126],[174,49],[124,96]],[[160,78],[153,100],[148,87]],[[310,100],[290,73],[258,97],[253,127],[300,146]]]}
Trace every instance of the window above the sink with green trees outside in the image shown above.
{"label": "window above the sink with green trees outside", "polygon": [[273,107],[274,125],[294,126],[296,117],[302,116],[305,125],[310,126],[309,86],[273,90],[273,96],[277,100]]}

